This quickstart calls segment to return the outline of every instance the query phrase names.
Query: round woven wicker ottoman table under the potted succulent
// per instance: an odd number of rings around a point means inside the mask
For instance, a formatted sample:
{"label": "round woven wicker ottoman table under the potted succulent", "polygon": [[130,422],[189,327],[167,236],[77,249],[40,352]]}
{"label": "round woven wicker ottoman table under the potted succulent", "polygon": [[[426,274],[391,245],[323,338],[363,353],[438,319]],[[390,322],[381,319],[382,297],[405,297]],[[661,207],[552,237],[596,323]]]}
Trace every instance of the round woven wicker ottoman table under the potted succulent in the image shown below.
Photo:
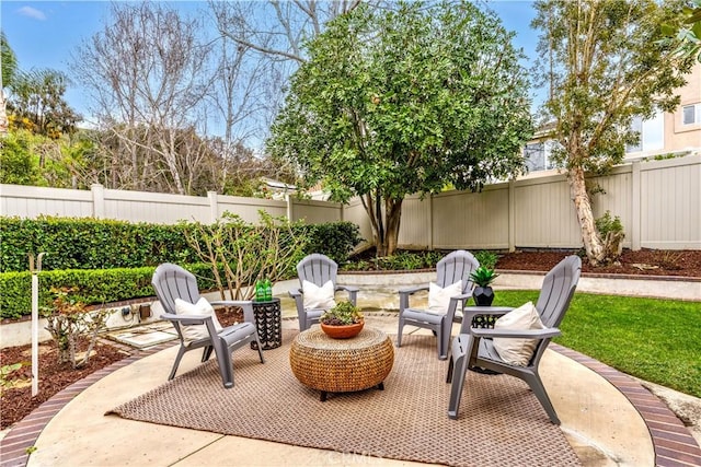
{"label": "round woven wicker ottoman table under the potted succulent", "polygon": [[392,341],[379,329],[367,326],[350,339],[332,339],[319,326],[297,335],[289,351],[289,364],[299,382],[327,393],[349,393],[377,386],[394,364]]}

